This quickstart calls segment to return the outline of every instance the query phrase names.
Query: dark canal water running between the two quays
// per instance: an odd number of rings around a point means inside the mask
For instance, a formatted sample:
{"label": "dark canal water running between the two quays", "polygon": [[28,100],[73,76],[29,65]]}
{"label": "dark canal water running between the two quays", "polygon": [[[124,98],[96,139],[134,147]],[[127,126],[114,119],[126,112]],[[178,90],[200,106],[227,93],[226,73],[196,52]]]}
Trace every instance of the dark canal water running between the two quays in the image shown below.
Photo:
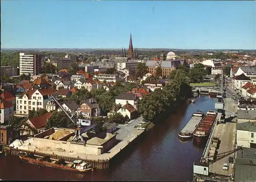
{"label": "dark canal water running between the two quays", "polygon": [[197,109],[214,110],[214,99],[201,96],[156,125],[108,170],[77,173],[23,163],[17,156],[0,157],[0,179],[5,180],[192,180],[193,162],[199,161],[204,145],[182,143],[179,131]]}

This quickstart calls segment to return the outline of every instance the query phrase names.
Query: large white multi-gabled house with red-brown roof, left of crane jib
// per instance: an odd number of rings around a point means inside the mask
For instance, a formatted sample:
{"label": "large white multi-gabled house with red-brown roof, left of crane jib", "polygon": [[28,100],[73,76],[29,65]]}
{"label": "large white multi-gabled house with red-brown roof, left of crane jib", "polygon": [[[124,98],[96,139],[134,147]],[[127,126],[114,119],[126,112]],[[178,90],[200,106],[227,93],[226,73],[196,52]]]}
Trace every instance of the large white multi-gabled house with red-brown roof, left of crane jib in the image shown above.
{"label": "large white multi-gabled house with red-brown roof, left of crane jib", "polygon": [[16,97],[16,113],[19,115],[28,115],[33,110],[40,108],[46,109],[46,105],[51,98],[49,96],[56,96],[54,89],[30,89]]}

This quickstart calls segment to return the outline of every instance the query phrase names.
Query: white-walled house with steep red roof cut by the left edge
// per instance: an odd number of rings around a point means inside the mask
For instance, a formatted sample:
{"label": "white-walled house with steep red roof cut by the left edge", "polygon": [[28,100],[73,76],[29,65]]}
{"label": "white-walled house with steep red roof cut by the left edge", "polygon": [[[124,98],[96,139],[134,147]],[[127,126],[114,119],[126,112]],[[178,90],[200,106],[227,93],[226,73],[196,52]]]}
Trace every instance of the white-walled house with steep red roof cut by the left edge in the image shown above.
{"label": "white-walled house with steep red roof cut by the left edge", "polygon": [[0,123],[4,123],[5,121],[9,120],[13,114],[14,114],[14,110],[13,110],[13,104],[10,103],[9,101],[5,100],[5,99],[1,99],[1,121]]}

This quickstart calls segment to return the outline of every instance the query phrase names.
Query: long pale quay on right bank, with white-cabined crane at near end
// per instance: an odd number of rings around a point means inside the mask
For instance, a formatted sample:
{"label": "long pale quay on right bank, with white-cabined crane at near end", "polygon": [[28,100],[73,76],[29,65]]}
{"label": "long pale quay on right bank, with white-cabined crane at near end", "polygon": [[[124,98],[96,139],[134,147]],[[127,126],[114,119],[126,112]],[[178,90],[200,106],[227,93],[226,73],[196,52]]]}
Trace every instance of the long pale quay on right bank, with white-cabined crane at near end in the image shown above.
{"label": "long pale quay on right bank, with white-cabined crane at near end", "polygon": [[[211,131],[200,162],[194,163],[193,180],[232,181],[234,164],[229,157],[235,158],[236,151],[236,124],[234,118],[237,108],[233,107],[231,98],[224,99],[225,119],[221,120],[222,113],[218,112],[217,122]],[[231,162],[231,163],[230,163]],[[227,164],[227,169],[223,169]]]}

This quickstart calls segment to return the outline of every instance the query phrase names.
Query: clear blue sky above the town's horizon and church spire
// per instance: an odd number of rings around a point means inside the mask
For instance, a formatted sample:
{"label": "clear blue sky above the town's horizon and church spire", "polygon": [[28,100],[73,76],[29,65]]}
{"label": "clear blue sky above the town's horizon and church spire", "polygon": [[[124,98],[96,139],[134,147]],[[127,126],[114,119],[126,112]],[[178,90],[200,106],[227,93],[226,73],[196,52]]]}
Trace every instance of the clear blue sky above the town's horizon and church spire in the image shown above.
{"label": "clear blue sky above the town's horizon and church spire", "polygon": [[256,49],[255,1],[1,1],[2,48]]}

